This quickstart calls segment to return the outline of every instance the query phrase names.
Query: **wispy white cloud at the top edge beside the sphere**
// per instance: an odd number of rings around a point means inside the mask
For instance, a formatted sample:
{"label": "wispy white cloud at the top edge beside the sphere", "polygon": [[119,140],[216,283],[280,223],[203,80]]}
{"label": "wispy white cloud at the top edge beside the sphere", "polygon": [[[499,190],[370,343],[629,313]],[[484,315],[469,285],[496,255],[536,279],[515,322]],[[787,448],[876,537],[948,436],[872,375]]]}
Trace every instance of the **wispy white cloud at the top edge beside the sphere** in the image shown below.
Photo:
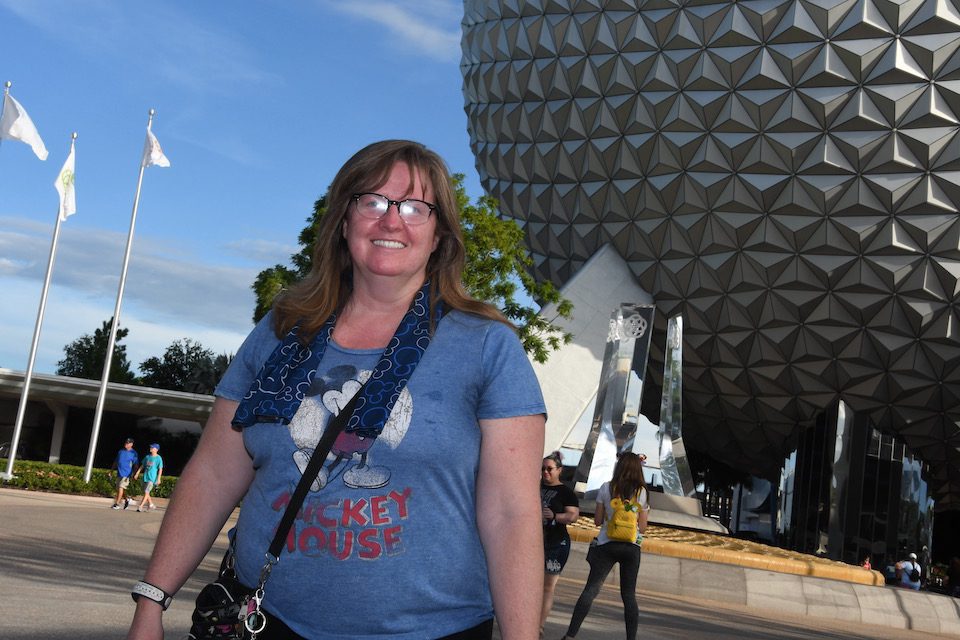
{"label": "wispy white cloud at the top edge beside the sphere", "polygon": [[[441,62],[460,60],[459,16],[463,11],[460,2],[326,0],[324,5],[384,27],[385,31],[369,31],[369,37],[389,38],[393,48],[401,53],[419,53]],[[451,28],[451,23],[455,24],[456,28]]]}

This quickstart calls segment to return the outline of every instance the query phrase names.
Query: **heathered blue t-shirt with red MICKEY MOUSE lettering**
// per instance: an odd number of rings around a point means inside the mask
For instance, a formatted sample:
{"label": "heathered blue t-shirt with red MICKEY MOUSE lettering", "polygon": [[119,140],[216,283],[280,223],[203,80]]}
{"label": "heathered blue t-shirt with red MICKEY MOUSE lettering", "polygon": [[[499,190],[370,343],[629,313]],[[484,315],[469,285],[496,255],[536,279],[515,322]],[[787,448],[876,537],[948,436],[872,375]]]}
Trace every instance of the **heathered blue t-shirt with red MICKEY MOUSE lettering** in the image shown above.
{"label": "heathered blue t-shirt with red MICKEY MOUSE lettering", "polygon": [[[279,343],[270,321],[244,342],[216,395],[246,394]],[[331,341],[290,425],[244,430],[257,470],[236,528],[244,583],[256,584],[327,421],[379,358],[380,350]],[[476,522],[478,420],[545,411],[516,335],[499,322],[448,313],[383,433],[337,438],[270,575],[264,607],[298,634],[326,639],[434,638],[492,617]]]}

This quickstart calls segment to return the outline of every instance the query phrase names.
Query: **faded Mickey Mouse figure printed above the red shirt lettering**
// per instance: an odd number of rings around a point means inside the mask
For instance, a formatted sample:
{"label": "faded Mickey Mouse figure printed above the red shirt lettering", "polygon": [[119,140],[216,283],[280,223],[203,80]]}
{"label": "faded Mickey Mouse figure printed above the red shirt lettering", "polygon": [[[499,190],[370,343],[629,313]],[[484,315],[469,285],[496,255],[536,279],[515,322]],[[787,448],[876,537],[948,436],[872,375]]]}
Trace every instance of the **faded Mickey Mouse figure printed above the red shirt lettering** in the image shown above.
{"label": "faded Mickey Mouse figure printed above the red shirt lettering", "polygon": [[[370,370],[361,371],[350,365],[334,367],[324,375],[317,372],[310,390],[290,421],[290,436],[297,445],[293,462],[301,475],[330,420],[340,413],[371,373]],[[412,413],[413,398],[404,388],[379,436],[364,437],[346,431],[337,436],[323,467],[310,485],[310,491],[320,491],[338,473],[343,474],[343,483],[354,489],[385,486],[390,482],[390,469],[371,464],[370,449],[376,442],[396,449],[407,433]]]}

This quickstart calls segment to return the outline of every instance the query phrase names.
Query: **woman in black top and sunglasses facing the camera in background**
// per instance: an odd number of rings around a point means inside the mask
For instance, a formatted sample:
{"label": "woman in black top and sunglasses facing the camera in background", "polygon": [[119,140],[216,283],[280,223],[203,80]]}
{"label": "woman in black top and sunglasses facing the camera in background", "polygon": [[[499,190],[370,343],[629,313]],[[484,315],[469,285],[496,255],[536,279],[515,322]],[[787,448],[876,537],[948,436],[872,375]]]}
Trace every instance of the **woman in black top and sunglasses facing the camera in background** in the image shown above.
{"label": "woman in black top and sunglasses facing the camera in background", "polygon": [[543,459],[540,468],[540,503],[543,505],[543,610],[540,612],[540,634],[553,607],[553,592],[560,572],[570,557],[570,534],[567,525],[580,517],[580,501],[577,494],[560,482],[563,471],[559,451]]}

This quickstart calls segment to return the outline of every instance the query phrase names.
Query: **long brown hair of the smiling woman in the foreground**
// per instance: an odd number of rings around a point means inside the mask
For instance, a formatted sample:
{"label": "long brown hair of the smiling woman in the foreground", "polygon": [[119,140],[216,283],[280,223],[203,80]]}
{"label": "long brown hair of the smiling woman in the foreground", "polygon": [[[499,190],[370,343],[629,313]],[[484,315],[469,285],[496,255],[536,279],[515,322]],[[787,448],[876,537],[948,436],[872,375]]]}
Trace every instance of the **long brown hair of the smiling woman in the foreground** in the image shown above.
{"label": "long brown hair of the smiling woman in the foreground", "polygon": [[350,211],[353,194],[378,188],[398,162],[410,172],[410,188],[419,176],[424,188],[433,191],[437,206],[434,215],[438,242],[427,262],[426,274],[431,303],[442,299],[448,310],[458,309],[513,327],[496,307],[473,299],[463,287],[466,252],[460,211],[446,163],[419,142],[383,140],[355,153],[333,179],[327,194],[327,212],[317,229],[310,273],[281,293],[274,303],[273,329],[278,337],[299,324],[300,339],[308,342],[327,317],[346,304],[353,292],[353,263],[343,238],[343,221]]}

